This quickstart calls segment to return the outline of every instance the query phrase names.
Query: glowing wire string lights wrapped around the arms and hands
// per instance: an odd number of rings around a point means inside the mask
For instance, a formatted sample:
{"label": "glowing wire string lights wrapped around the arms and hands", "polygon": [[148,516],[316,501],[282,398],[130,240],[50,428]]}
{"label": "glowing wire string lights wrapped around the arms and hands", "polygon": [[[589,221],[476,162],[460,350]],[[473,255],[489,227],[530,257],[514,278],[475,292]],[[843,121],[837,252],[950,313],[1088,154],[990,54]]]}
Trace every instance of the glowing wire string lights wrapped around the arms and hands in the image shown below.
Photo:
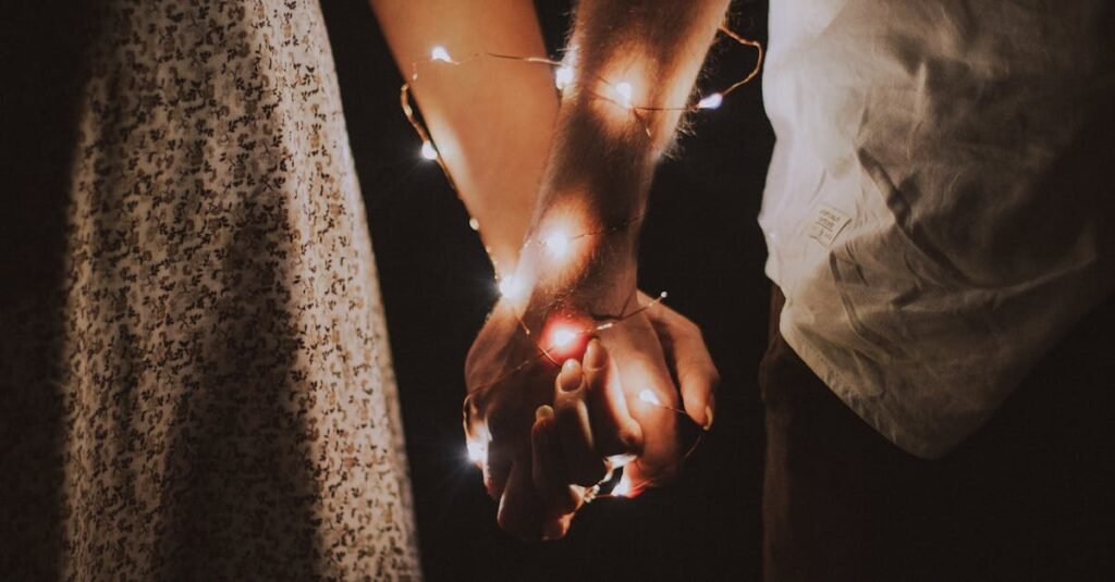
{"label": "glowing wire string lights wrapped around the arms and hands", "polygon": [[[734,91],[737,88],[741,87],[743,85],[749,83],[752,79],[754,79],[758,75],[758,72],[759,72],[759,70],[762,69],[762,66],[763,66],[763,57],[764,57],[763,46],[758,41],[743,38],[739,35],[737,35],[737,33],[733,32],[731,30],[729,30],[724,25],[721,25],[719,27],[719,30],[725,36],[727,36],[728,38],[730,38],[734,41],[738,42],[739,45],[752,47],[752,48],[754,48],[757,51],[757,56],[756,56],[756,60],[755,60],[755,67],[743,79],[734,83],[728,88],[726,88],[726,89],[724,89],[721,91],[709,94],[708,96],[699,99],[694,105],[680,106],[680,107],[677,107],[677,106],[675,106],[675,107],[644,107],[644,106],[638,106],[638,105],[634,105],[632,103],[632,100],[631,100],[634,91],[633,91],[633,87],[631,86],[631,84],[629,81],[621,81],[621,83],[618,83],[615,85],[612,85],[607,79],[599,79],[599,80],[603,81],[605,86],[610,86],[610,87],[613,88],[614,93],[618,96],[618,99],[615,99],[615,103],[618,103],[620,106],[622,106],[622,107],[624,107],[627,109],[632,110],[636,114],[634,117],[637,119],[639,119],[640,123],[643,123],[643,120],[642,120],[642,117],[639,115],[639,111],[670,111],[670,110],[672,110],[672,111],[682,111],[682,113],[694,113],[694,111],[699,111],[699,110],[716,109],[716,108],[720,107],[720,105],[724,103],[724,98],[727,97],[731,91]],[[552,59],[542,58],[542,57],[517,57],[517,56],[511,56],[511,55],[500,55],[500,54],[495,54],[495,52],[477,52],[477,54],[474,54],[474,55],[469,56],[468,58],[466,58],[464,60],[457,61],[457,60],[454,60],[453,57],[449,56],[449,51],[445,47],[443,47],[440,45],[435,46],[430,50],[430,56],[429,56],[429,59],[427,60],[427,62],[444,62],[444,64],[448,64],[448,65],[458,66],[458,65],[464,65],[465,62],[468,62],[468,61],[471,61],[471,60],[473,60],[475,58],[478,58],[478,57],[489,57],[489,58],[495,58],[495,59],[505,59],[505,60],[513,60],[513,61],[529,62],[529,64],[539,64],[539,65],[546,65],[546,66],[555,67],[555,70],[554,70],[554,86],[556,87],[556,89],[559,91],[564,90],[573,81],[573,78],[574,78],[574,71],[573,71],[573,69],[571,67],[565,66],[565,65],[563,65],[561,62],[554,61]],[[419,61],[415,61],[415,62],[411,64],[411,69],[413,69],[413,72],[411,72],[411,76],[410,76],[411,80],[417,80],[418,79],[418,67],[419,67],[419,65],[420,65]],[[594,97],[608,99],[608,100],[613,100],[613,99],[610,99],[608,97],[603,97],[603,96],[600,96],[600,95],[594,95],[594,94],[591,94],[591,93],[590,93],[590,95],[592,95]],[[415,133],[417,133],[418,137],[421,139],[421,156],[424,158],[426,158],[426,159],[436,162],[438,164],[438,166],[440,166],[442,172],[445,175],[446,181],[449,184],[449,187],[453,188],[455,192],[457,192],[457,195],[459,197],[459,191],[457,190],[456,183],[453,180],[453,175],[449,172],[448,166],[446,166],[445,161],[442,158],[442,156],[438,155],[437,148],[434,146],[434,143],[433,143],[433,139],[430,139],[429,133],[426,130],[425,126],[423,126],[423,124],[420,122],[418,122],[418,118],[415,115],[414,108],[410,105],[410,85],[407,84],[407,83],[404,83],[403,86],[399,89],[399,106],[403,109],[403,114],[406,116],[407,120],[410,123],[410,126],[415,129]],[[650,128],[647,127],[646,123],[643,123],[643,128],[647,130],[648,134],[650,133]],[[472,230],[479,232],[479,222],[475,217],[469,217],[468,219],[468,226]],[[571,237],[568,233],[565,233],[563,231],[552,231],[541,242],[542,242],[543,245],[545,245],[546,250],[550,252],[550,254],[553,258],[559,259],[559,260],[563,260],[568,255],[568,253],[569,253],[570,242],[573,239],[579,239],[579,237],[582,237],[582,236],[590,236],[590,235],[595,235],[595,234],[602,234],[602,233],[583,233],[583,234],[579,234],[576,236],[572,236]],[[527,244],[529,243],[530,243],[530,241],[527,241]],[[495,264],[495,259],[492,256],[491,246],[485,246],[485,250],[488,252],[488,259],[492,261],[493,266],[497,266]],[[523,284],[522,284],[522,282],[517,281],[514,278],[514,275],[508,275],[508,277],[504,277],[504,278],[500,279],[498,282],[497,282],[497,285],[498,285],[500,293],[504,298],[507,298],[507,299],[517,298],[523,292]],[[465,401],[463,402],[463,406],[464,406],[464,424],[465,424],[465,433],[466,433],[466,435],[472,435],[473,434],[472,426],[471,426],[471,423],[469,423],[469,416],[471,416],[469,415],[469,410],[471,410],[471,402],[473,401],[473,398],[476,395],[483,394],[484,391],[494,388],[495,386],[500,385],[501,382],[505,381],[510,377],[512,377],[515,374],[520,372],[521,370],[523,370],[527,366],[530,366],[533,362],[537,361],[539,358],[545,357],[552,363],[558,363],[556,360],[554,360],[554,358],[551,355],[551,351],[552,351],[553,348],[559,348],[560,349],[560,348],[570,346],[571,343],[573,343],[579,338],[584,338],[584,337],[588,337],[588,336],[590,336],[590,334],[592,334],[594,332],[607,330],[607,329],[610,329],[610,328],[614,327],[618,323],[622,323],[623,321],[626,321],[626,320],[628,320],[630,318],[633,318],[633,317],[638,316],[639,313],[641,313],[641,312],[643,312],[643,311],[646,311],[648,309],[651,309],[652,307],[655,307],[656,304],[658,304],[662,300],[665,300],[666,297],[667,297],[667,294],[663,291],[658,298],[656,298],[655,300],[650,301],[646,305],[639,307],[638,309],[636,309],[634,311],[632,311],[630,313],[621,313],[620,317],[618,317],[618,318],[607,319],[607,320],[604,320],[604,321],[602,321],[602,322],[600,322],[600,323],[598,323],[598,324],[595,324],[593,327],[589,327],[586,329],[575,330],[575,329],[570,329],[570,328],[564,328],[564,327],[555,328],[554,331],[551,333],[551,341],[552,341],[551,349],[545,349],[542,346],[539,346],[537,343],[535,343],[535,347],[539,350],[539,356],[537,357],[527,359],[527,360],[523,361],[522,363],[520,363],[520,365],[511,368],[504,375],[502,375],[501,377],[498,377],[495,381],[493,381],[493,382],[491,382],[491,384],[488,384],[486,386],[477,387],[468,396],[465,397]],[[526,327],[526,324],[523,322],[522,318],[518,317],[517,314],[516,314],[516,317],[518,318],[520,326],[522,327],[522,329],[526,333],[526,336],[527,337],[533,337],[533,334],[531,332],[531,329]],[[680,409],[672,408],[672,407],[663,405],[661,402],[661,400],[658,398],[658,396],[653,391],[651,391],[649,389],[644,389],[644,390],[640,391],[639,392],[639,399],[642,400],[642,401],[644,401],[644,402],[647,402],[647,404],[650,404],[650,405],[653,405],[653,406],[659,406],[661,408],[665,408],[665,409],[672,410],[675,413],[685,415],[683,410],[680,410]],[[484,426],[479,427],[478,433],[479,433],[478,435],[472,436],[472,437],[469,437],[467,439],[467,442],[466,442],[466,455],[467,455],[469,462],[472,462],[472,463],[481,466],[482,468],[485,468],[485,471],[486,471],[486,465],[487,465],[487,448],[488,448],[488,442],[491,440],[491,435],[487,433],[486,427],[484,427]],[[689,457],[689,455],[691,455],[692,452],[696,450],[697,446],[700,444],[700,442],[701,442],[702,438],[704,438],[702,434],[697,437],[697,440],[694,443],[692,447],[690,447],[690,449],[686,453],[686,455],[681,458],[681,462],[685,462]],[[633,457],[626,458],[626,459],[617,458],[612,463],[614,463],[613,466],[621,467],[623,464],[627,464],[632,458]],[[612,459],[610,459],[610,460],[612,460]],[[643,483],[640,483],[640,484],[636,485],[636,484],[631,483],[631,479],[630,479],[630,477],[627,474],[623,474],[623,475],[620,476],[620,481],[617,483],[615,487],[613,487],[612,492],[609,495],[603,495],[603,496],[600,496],[600,497],[631,497],[631,496],[637,495],[639,492],[641,492],[642,487],[644,485],[649,485],[649,484],[653,484],[653,479],[648,479],[648,481],[644,481]],[[597,492],[599,492],[599,486],[598,487],[592,487],[589,491],[591,491],[592,494],[589,497],[586,497],[586,499],[585,499],[586,502],[592,501],[592,498],[597,498],[598,497]]]}

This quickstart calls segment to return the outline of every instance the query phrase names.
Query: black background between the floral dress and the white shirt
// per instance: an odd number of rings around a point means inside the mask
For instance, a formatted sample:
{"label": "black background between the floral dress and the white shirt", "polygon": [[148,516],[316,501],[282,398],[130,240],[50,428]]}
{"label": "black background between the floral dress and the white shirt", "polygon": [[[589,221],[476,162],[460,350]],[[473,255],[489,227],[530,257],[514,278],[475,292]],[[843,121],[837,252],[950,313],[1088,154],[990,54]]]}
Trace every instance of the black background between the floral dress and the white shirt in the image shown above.
{"label": "black background between the floral dress and the white shirt", "polygon": [[[640,287],[667,290],[696,321],[723,375],[716,426],[672,486],[604,501],[560,542],[500,532],[495,503],[464,457],[463,362],[495,300],[467,214],[398,107],[403,83],[370,9],[323,0],[349,136],[367,200],[403,397],[423,563],[429,580],[754,580],[758,578],[762,411],[756,374],[769,283],[756,224],[774,142],[758,79],[694,119],[661,165],[642,233]],[[540,0],[553,55],[569,2]],[[766,2],[731,26],[766,40]],[[720,39],[700,86],[723,88],[754,54]]]}

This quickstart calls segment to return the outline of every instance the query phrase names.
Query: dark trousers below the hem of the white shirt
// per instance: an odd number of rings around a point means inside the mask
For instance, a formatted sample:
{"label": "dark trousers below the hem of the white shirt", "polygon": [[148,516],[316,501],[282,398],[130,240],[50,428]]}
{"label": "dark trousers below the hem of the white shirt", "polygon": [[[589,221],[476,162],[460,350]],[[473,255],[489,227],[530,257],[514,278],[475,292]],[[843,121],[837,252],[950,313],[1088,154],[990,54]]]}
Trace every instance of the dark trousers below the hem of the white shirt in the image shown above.
{"label": "dark trousers below the hem of the white shirt", "polygon": [[760,367],[764,578],[1115,580],[1115,309],[1086,318],[939,460],[875,433],[786,345]]}

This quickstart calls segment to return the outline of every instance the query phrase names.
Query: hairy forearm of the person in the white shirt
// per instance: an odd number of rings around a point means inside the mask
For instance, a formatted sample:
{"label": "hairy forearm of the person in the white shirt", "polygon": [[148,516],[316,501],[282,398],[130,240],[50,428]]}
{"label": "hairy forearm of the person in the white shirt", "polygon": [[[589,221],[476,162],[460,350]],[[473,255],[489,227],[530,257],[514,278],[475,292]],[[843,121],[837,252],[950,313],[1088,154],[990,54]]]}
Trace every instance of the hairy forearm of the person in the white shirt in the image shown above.
{"label": "hairy forearm of the person in the white shirt", "polygon": [[[638,230],[655,165],[673,138],[678,109],[687,104],[727,4],[581,2],[570,47],[574,80],[564,93],[527,235],[539,244],[529,244],[524,255],[536,263],[530,273],[535,285],[581,285],[593,297],[633,289]],[[630,97],[621,84],[630,87]],[[591,234],[556,258],[544,244],[555,232]]]}

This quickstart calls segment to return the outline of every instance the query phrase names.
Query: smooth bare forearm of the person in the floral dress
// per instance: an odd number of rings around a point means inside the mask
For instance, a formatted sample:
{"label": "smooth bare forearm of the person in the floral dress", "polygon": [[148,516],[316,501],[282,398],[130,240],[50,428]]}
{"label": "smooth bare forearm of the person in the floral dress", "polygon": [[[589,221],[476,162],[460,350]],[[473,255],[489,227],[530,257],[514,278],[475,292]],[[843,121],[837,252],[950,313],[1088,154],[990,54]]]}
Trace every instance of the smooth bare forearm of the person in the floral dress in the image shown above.
{"label": "smooth bare forearm of the person in the floral dress", "polygon": [[[455,59],[478,52],[544,56],[530,0],[370,0],[399,70],[444,46]],[[438,154],[502,272],[514,266],[531,222],[558,115],[552,70],[477,58],[432,62],[410,81]]]}

